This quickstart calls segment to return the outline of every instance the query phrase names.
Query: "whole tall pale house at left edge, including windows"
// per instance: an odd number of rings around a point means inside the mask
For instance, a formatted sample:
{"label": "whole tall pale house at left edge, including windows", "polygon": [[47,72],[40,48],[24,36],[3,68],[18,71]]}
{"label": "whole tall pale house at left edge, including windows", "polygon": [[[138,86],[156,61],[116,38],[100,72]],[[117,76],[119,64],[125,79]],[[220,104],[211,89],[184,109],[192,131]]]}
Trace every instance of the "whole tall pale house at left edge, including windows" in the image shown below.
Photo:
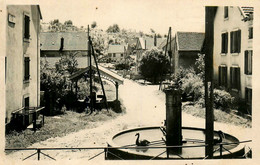
{"label": "whole tall pale house at left edge, including windows", "polygon": [[8,5],[6,18],[6,126],[32,122],[40,106],[40,20],[38,5]]}

